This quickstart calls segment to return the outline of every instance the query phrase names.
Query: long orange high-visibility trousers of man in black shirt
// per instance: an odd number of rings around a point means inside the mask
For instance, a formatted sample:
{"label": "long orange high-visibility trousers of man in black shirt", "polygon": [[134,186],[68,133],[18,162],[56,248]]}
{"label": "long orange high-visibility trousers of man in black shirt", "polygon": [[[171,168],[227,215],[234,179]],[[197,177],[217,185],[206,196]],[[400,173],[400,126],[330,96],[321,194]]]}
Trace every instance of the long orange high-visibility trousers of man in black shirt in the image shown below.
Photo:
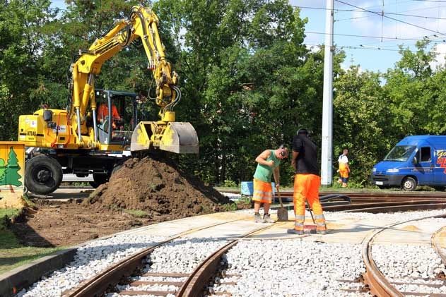
{"label": "long orange high-visibility trousers of man in black shirt", "polygon": [[319,186],[321,178],[315,174],[295,174],[294,176],[294,229],[303,231],[305,221],[305,200],[308,201],[315,214],[317,230],[327,230],[322,205],[319,202]]}

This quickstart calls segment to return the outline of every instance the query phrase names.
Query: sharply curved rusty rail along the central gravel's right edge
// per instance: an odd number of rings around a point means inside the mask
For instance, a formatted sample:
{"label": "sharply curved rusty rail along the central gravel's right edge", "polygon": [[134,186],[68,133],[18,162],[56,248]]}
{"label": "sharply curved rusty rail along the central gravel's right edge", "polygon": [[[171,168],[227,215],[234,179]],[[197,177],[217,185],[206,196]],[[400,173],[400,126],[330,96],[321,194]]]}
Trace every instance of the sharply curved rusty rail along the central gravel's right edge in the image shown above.
{"label": "sharply curved rusty rail along the central gravel's right edge", "polygon": [[431,219],[431,218],[444,218],[446,217],[446,214],[440,214],[436,216],[430,216],[430,217],[422,217],[418,219],[410,219],[406,222],[398,222],[394,224],[389,224],[387,226],[383,226],[377,231],[373,232],[372,234],[368,235],[364,238],[362,243],[362,255],[363,255],[363,261],[365,264],[365,273],[363,273],[364,283],[369,286],[370,293],[376,296],[380,297],[401,297],[404,296],[403,293],[401,293],[397,288],[395,288],[382,274],[380,269],[377,267],[375,261],[372,257],[372,243],[375,241],[375,238],[377,234],[380,234],[382,231],[385,231],[389,228],[392,228],[394,226],[397,226],[399,224],[406,224],[408,222],[415,222],[419,221],[421,219]]}

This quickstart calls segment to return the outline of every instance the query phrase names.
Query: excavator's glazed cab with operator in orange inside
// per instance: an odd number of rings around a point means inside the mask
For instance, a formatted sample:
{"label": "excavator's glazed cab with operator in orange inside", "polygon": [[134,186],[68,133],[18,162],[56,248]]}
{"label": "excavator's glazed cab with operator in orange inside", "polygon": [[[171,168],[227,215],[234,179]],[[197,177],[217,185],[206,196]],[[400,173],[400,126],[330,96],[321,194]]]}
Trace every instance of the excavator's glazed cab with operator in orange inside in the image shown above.
{"label": "excavator's glazed cab with operator in orange inside", "polygon": [[138,123],[138,95],[115,90],[95,90],[99,142],[129,148]]}

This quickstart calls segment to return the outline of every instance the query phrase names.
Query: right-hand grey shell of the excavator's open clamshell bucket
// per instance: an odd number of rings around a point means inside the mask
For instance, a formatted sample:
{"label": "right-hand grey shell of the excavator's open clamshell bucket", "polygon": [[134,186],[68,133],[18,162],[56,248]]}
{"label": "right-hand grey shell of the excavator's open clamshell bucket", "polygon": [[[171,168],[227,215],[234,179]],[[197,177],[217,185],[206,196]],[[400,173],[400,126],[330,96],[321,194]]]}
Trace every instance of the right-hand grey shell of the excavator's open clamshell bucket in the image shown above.
{"label": "right-hand grey shell of the excavator's open clamshell bucket", "polygon": [[177,154],[198,154],[198,136],[188,122],[170,122],[160,141],[160,149]]}

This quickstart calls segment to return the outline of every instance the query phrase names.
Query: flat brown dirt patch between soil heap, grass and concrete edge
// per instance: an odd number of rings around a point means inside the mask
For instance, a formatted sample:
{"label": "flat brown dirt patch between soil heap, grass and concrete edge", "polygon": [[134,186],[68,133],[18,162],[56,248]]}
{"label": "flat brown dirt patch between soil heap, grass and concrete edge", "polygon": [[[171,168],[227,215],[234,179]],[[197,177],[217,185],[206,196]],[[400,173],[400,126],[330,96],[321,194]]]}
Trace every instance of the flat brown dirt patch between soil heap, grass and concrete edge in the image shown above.
{"label": "flat brown dirt patch between soil heap, grass and concrete edge", "polygon": [[81,205],[81,200],[60,202],[37,199],[34,202],[35,210],[25,211],[10,226],[25,246],[73,246],[163,220],[134,217],[117,210],[93,210]]}

